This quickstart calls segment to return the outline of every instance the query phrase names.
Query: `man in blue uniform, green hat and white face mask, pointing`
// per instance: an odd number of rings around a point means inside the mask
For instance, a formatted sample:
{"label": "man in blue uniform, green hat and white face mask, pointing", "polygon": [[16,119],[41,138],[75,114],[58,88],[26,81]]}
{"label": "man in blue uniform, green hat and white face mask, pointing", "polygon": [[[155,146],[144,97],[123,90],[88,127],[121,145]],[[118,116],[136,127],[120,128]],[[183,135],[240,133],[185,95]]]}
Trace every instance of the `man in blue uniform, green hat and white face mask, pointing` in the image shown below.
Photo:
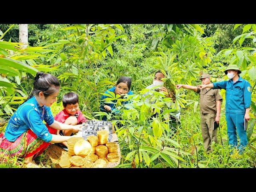
{"label": "man in blue uniform, green hat and white face mask, pointing", "polygon": [[[239,76],[241,71],[237,65],[229,65],[224,72],[229,80],[200,85],[200,89],[211,87],[226,90],[228,143],[231,148],[237,147],[239,154],[242,154],[248,144],[246,130],[244,130],[244,119],[250,120],[251,86],[248,81]],[[237,145],[236,131],[240,138],[239,145]]]}

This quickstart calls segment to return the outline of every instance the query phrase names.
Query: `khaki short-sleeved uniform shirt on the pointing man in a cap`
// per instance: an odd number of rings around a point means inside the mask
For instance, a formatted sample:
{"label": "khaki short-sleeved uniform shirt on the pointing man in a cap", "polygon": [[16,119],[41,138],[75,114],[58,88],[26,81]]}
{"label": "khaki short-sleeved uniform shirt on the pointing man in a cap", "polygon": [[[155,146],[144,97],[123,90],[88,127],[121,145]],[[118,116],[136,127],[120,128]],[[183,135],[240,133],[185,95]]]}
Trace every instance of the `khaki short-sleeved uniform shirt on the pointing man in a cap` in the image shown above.
{"label": "khaki short-sleeved uniform shirt on the pointing man in a cap", "polygon": [[200,112],[202,114],[216,114],[216,101],[222,100],[219,89],[209,90],[197,88],[197,93],[200,94]]}

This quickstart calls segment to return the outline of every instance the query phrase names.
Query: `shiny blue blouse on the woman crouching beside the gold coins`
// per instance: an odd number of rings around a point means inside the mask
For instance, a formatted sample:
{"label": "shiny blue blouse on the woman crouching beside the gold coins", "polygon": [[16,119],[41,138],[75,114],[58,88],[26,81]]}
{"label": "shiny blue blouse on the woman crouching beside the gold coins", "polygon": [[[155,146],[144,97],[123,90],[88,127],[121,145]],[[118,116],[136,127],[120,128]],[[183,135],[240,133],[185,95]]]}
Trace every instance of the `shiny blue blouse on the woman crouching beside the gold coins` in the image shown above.
{"label": "shiny blue blouse on the woman crouching beside the gold coins", "polygon": [[43,120],[48,125],[54,122],[50,107],[44,105],[40,107],[35,96],[33,96],[20,105],[12,115],[6,126],[4,136],[8,141],[14,142],[22,133],[31,129],[38,138],[50,142],[52,134],[49,133]]}

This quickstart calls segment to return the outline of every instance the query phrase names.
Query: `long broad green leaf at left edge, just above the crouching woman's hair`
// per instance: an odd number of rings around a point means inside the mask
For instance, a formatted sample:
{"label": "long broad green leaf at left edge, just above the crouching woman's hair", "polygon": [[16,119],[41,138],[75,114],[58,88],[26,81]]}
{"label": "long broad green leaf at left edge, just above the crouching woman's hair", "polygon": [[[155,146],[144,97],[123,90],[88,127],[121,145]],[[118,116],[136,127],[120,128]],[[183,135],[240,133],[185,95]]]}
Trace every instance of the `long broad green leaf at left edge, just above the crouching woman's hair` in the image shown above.
{"label": "long broad green leaf at left edge, just above the crouching woman's hair", "polygon": [[8,58],[0,58],[0,63],[1,65],[7,65],[9,67],[36,75],[36,73],[38,72],[38,70],[36,70],[35,68],[24,64],[20,61],[16,61],[16,60],[12,60],[12,59],[8,59]]}

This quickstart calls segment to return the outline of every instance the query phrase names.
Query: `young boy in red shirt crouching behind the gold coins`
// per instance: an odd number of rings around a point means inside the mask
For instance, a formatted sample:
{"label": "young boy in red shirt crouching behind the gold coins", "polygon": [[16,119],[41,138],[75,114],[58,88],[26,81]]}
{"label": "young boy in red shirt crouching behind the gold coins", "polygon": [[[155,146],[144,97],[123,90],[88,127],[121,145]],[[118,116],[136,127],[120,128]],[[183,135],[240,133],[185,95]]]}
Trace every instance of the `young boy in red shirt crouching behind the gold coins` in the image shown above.
{"label": "young boy in red shirt crouching behind the gold coins", "polygon": [[[60,111],[55,117],[54,120],[68,124],[68,125],[77,125],[86,122],[86,118],[79,110],[78,105],[78,95],[74,92],[69,92],[64,94],[62,97],[62,104],[64,109]],[[71,136],[76,132],[72,130],[58,130],[57,134],[64,135],[64,136]],[[67,142],[63,142],[66,147],[68,147]]]}

